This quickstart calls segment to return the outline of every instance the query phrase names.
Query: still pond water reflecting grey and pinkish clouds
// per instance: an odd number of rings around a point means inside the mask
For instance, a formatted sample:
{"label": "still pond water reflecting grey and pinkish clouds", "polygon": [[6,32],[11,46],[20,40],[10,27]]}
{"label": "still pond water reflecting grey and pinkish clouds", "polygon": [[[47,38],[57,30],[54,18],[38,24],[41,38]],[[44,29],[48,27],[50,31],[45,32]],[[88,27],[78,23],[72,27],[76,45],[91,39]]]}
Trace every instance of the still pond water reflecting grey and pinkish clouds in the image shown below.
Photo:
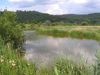
{"label": "still pond water reflecting grey and pinkish clouds", "polygon": [[80,40],[70,37],[54,38],[36,35],[35,31],[24,31],[24,33],[26,36],[25,59],[27,61],[48,64],[60,55],[73,59],[83,57],[91,63],[96,60],[96,50],[99,49],[99,42],[96,40]]}

